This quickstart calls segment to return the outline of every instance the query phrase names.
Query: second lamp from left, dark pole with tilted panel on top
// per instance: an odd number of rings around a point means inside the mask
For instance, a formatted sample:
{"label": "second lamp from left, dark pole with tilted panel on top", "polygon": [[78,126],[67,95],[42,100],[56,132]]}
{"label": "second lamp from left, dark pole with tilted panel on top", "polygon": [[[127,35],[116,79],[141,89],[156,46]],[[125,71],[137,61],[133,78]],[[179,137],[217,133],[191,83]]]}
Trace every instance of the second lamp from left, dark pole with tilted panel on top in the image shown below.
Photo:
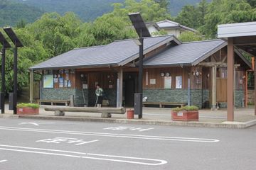
{"label": "second lamp from left, dark pole with tilted panel on top", "polygon": [[6,32],[6,34],[9,36],[9,38],[15,45],[14,47],[14,93],[9,94],[9,110],[14,110],[14,114],[16,115],[17,89],[18,89],[18,83],[17,83],[18,47],[23,47],[23,45],[11,27],[4,28],[4,32]]}

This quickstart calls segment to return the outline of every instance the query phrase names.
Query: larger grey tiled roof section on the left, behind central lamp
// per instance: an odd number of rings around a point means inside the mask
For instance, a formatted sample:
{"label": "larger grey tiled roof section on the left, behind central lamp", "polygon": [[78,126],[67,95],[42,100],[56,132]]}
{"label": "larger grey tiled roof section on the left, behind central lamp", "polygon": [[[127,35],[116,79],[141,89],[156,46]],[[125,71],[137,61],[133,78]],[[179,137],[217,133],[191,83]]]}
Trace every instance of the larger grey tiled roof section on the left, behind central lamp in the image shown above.
{"label": "larger grey tiled roof section on the left, behind central lamp", "polygon": [[[144,38],[144,54],[171,40],[181,44],[174,35]],[[119,40],[105,46],[70,50],[30,69],[122,66],[137,59],[137,57],[139,57],[139,46],[134,40]]]}

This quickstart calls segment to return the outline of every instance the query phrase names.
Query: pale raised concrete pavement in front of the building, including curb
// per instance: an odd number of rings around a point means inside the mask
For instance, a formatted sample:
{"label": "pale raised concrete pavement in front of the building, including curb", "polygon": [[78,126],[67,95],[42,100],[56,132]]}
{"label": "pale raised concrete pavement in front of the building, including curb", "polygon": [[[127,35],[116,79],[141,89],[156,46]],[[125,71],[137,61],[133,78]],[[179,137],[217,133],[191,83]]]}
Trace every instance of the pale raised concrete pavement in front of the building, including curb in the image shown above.
{"label": "pale raised concrete pavement in front of the building, including curb", "polygon": [[[145,125],[181,125],[191,127],[208,127],[208,128],[248,128],[256,125],[256,116],[253,108],[239,108],[235,109],[235,121],[226,121],[226,111],[221,109],[218,111],[200,110],[198,122],[181,122],[171,120],[170,108],[144,108],[143,119],[138,119],[135,115],[134,120],[128,120],[127,114],[115,115],[112,118],[100,118],[100,113],[69,113],[65,116],[54,116],[53,112],[44,111],[45,107],[41,106],[39,115],[12,115],[12,111],[8,110],[6,105],[6,114],[0,115],[0,118],[31,118],[44,120],[77,120],[77,121],[95,121],[106,123],[132,123]],[[63,106],[62,106],[63,107]],[[129,108],[128,108],[129,109]]]}

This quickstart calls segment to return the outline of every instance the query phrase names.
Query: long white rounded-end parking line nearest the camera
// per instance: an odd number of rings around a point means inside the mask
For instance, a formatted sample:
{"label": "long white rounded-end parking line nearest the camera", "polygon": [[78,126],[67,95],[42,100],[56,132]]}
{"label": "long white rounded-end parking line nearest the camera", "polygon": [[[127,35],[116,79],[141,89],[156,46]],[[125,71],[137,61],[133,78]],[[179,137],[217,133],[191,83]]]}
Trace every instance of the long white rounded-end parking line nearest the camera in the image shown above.
{"label": "long white rounded-end parking line nearest the camera", "polygon": [[83,153],[83,152],[71,152],[71,151],[65,151],[65,150],[43,149],[43,148],[36,148],[36,147],[0,145],[0,150],[14,151],[14,152],[27,152],[32,154],[49,154],[49,155],[63,156],[63,157],[96,159],[96,160],[103,160],[103,161],[110,161],[110,162],[123,162],[123,163],[129,163],[129,164],[143,164],[143,165],[151,165],[151,166],[167,164],[165,160],[161,160],[161,159],[124,157],[124,156],[108,155],[108,154],[90,154],[90,153]]}

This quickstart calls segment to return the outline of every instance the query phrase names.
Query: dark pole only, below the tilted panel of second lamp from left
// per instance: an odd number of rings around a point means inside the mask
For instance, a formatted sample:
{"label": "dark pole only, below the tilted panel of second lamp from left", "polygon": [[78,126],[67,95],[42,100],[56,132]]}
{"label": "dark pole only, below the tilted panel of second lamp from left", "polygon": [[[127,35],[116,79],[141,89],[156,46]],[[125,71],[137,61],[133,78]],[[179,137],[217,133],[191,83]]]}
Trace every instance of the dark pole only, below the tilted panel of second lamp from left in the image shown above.
{"label": "dark pole only, below the tilted panel of second lamp from left", "polygon": [[18,89],[18,86],[17,86],[17,71],[18,71],[18,68],[17,68],[17,62],[18,60],[18,48],[17,46],[15,45],[15,48],[14,48],[14,115],[17,114],[17,109],[16,109],[16,106],[17,106],[17,89]]}

